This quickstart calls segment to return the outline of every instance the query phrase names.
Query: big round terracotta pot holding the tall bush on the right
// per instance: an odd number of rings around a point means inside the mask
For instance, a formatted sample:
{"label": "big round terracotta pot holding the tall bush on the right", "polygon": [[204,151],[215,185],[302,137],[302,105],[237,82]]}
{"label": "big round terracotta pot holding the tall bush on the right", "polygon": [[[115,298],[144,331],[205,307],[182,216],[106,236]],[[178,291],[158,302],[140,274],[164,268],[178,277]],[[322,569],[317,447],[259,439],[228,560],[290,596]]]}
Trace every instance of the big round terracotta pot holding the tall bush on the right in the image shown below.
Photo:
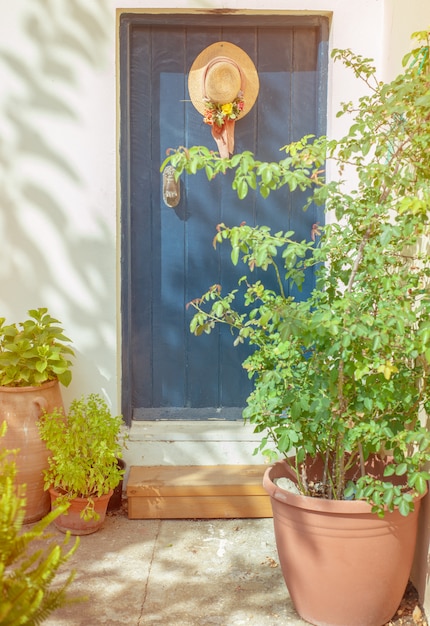
{"label": "big round terracotta pot holding the tall bush on the right", "polygon": [[395,614],[414,556],[420,499],[403,517],[383,519],[360,501],[295,495],[273,482],[293,479],[285,461],[269,467],[282,573],[299,615],[318,626],[381,626]]}

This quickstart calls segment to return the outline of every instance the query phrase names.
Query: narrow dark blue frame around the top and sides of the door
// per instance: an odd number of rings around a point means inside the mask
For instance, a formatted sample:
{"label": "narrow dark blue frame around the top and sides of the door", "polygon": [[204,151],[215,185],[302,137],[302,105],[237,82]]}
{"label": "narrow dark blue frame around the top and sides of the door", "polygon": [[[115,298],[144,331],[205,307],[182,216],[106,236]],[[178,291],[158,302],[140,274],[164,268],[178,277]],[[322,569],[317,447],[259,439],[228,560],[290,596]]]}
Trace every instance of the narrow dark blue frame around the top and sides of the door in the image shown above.
{"label": "narrow dark blue frame around the top and sides of the door", "polygon": [[[257,21],[258,20],[258,21]],[[120,166],[120,319],[121,319],[121,411],[126,424],[132,422],[132,323],[131,323],[131,115],[130,115],[130,46],[133,29],[141,26],[198,26],[229,28],[237,23],[240,27],[264,25],[265,27],[285,28],[286,26],[312,26],[319,29],[320,42],[318,50],[318,92],[317,92],[317,127],[318,135],[326,131],[327,116],[327,48],[329,36],[329,19],[327,14],[321,15],[293,15],[288,12],[265,13],[254,11],[250,13],[232,13],[223,10],[222,13],[134,13],[124,12],[119,15],[119,166]]]}

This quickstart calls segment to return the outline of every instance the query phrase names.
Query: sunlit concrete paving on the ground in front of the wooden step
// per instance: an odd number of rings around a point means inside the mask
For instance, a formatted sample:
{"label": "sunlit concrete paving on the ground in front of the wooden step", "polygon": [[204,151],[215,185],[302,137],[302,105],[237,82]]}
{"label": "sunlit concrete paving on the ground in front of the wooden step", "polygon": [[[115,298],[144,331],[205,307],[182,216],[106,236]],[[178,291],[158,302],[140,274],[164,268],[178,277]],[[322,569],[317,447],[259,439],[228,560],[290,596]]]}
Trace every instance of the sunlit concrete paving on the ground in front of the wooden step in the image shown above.
{"label": "sunlit concrete paving on the ground in front of the wooden step", "polygon": [[[64,535],[52,528],[53,540]],[[46,626],[304,626],[285,587],[272,519],[129,520],[126,502],[63,567],[88,600]]]}

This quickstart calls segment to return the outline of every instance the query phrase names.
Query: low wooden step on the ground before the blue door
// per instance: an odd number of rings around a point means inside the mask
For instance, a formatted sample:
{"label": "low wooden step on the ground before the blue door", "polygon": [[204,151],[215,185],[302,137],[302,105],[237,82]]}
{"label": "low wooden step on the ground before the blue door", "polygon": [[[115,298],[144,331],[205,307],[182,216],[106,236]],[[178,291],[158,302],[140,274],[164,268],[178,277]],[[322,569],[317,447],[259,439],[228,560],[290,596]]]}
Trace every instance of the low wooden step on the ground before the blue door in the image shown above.
{"label": "low wooden step on the ground before the blue door", "polygon": [[129,519],[272,517],[267,465],[132,466]]}

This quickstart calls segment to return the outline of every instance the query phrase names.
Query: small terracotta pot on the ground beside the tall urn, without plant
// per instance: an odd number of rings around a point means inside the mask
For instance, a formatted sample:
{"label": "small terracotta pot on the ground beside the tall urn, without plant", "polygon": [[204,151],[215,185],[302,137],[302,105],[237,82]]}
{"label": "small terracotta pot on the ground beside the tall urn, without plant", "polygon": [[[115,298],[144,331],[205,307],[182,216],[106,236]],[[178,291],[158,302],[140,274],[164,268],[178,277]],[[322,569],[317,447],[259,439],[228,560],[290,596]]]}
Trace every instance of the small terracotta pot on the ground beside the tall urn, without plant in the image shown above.
{"label": "small terracotta pot on the ground beside the tall urn, without plant", "polygon": [[[91,533],[97,532],[103,526],[103,522],[105,521],[106,510],[112,493],[113,490],[111,489],[106,495],[93,498],[94,509],[96,513],[99,514],[99,519],[82,519],[81,511],[83,511],[86,507],[88,499],[74,498],[70,501],[70,506],[66,513],[60,515],[54,520],[54,525],[62,533],[70,531],[71,535],[91,535]],[[61,494],[53,488],[49,490],[49,494],[51,496],[51,508],[54,509],[55,501]]]}

